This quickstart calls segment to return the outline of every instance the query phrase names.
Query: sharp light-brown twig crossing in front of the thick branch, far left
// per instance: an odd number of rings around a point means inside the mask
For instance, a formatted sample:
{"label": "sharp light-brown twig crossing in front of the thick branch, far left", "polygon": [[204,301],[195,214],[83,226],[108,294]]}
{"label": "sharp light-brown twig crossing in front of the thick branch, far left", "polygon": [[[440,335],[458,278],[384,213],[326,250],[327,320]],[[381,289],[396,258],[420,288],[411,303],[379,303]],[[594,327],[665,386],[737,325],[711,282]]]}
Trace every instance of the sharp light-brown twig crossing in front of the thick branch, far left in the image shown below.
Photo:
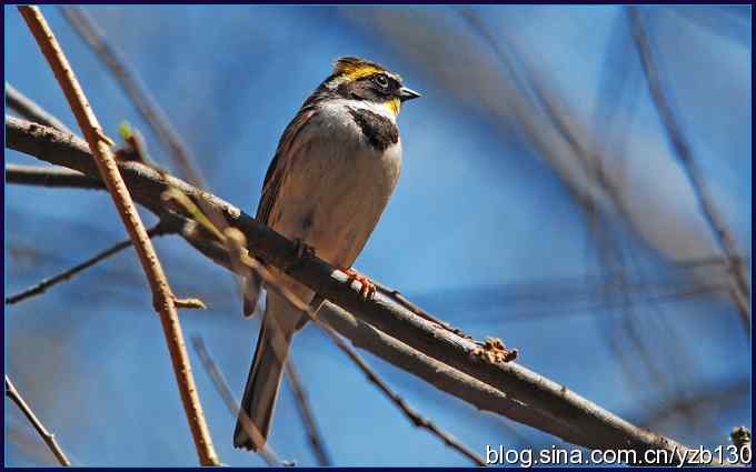
{"label": "sharp light-brown twig crossing in front of the thick branch, far left", "polygon": [[205,421],[199,394],[197,393],[191,374],[189,354],[183,343],[183,334],[181,333],[181,325],[173,302],[175,295],[170,290],[166,274],[160,265],[160,260],[145,230],[131,195],[121,178],[116,160],[110,152],[109,144],[112,144],[112,141],[102,131],[81,86],[71,70],[68,59],[58,44],[42,12],[37,7],[18,8],[66,94],[79,128],[81,128],[87,139],[89,149],[96,157],[94,162],[98,170],[137,249],[139,260],[152,290],[155,309],[160,314],[181,400],[199,455],[199,462],[202,465],[217,465],[219,460],[212,446],[210,431]]}

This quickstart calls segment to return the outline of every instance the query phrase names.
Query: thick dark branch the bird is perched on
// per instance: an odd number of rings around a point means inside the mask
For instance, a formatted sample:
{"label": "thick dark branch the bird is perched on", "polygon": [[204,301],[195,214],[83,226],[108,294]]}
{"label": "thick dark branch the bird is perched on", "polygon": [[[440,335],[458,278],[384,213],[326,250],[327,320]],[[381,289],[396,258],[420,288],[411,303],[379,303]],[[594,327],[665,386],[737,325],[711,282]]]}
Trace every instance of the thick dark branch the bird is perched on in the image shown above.
{"label": "thick dark branch the bird is perched on", "polygon": [[[6,118],[6,135],[7,145],[11,149],[88,175],[97,175],[86,144],[76,137],[64,135],[50,128],[8,117]],[[202,199],[203,204],[223,214],[229,225],[245,233],[252,254],[271,265],[282,268],[291,277],[349,311],[361,322],[370,324],[384,334],[421,352],[427,358],[432,358],[447,368],[464,372],[478,382],[498,390],[510,401],[508,406],[498,409],[498,412],[515,421],[591,449],[635,449],[638,451],[686,449],[668,438],[641,430],[621,420],[570,392],[566,386],[519,364],[490,362],[487,356],[478,355],[481,352],[479,343],[415,314],[386,293],[379,292],[375,300],[365,300],[358,289],[352,289],[345,283],[347,277],[342,272],[317,257],[298,259],[295,243],[216,195],[202,192],[179,179],[169,175],[163,178],[137,162],[120,162],[119,169],[135,200],[158,215],[169,211],[166,202],[160,198],[169,185],[178,188],[193,199]],[[183,231],[182,235],[215,262],[228,268],[226,248],[217,248],[217,244],[198,232]],[[334,323],[334,327],[338,328],[338,324]],[[339,331],[358,345],[366,342],[361,338],[351,338],[359,330],[339,329]],[[385,358],[394,355],[394,348],[374,345],[376,350],[387,352],[385,355],[379,355]],[[415,360],[411,360],[410,351],[407,351],[405,359],[407,363],[415,365],[415,369],[410,370],[412,373],[424,378],[432,375],[419,373],[434,368],[434,364],[428,363],[426,358],[416,355]],[[409,370],[406,366],[407,363],[399,366]],[[448,374],[446,378],[452,384],[458,382],[455,375]],[[455,384],[455,389],[458,388],[462,386]],[[449,388],[447,391],[451,392],[452,389]],[[487,398],[491,398],[490,390]],[[469,394],[465,400],[474,401],[479,408],[489,410],[479,404],[477,395]]]}

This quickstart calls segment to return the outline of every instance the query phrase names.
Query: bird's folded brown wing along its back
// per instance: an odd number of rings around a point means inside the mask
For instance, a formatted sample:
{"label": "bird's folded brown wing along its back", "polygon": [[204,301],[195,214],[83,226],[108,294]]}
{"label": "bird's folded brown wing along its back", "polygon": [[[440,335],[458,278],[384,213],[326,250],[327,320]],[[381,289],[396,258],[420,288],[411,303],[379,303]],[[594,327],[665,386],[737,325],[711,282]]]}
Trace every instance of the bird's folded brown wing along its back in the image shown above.
{"label": "bird's folded brown wing along its back", "polygon": [[297,154],[297,152],[292,151],[301,144],[297,141],[297,138],[301,135],[301,131],[307,127],[307,123],[310,122],[312,117],[315,117],[316,112],[316,107],[305,107],[297,113],[295,119],[291,120],[289,125],[286,127],[284,135],[278,143],[276,155],[273,157],[273,160],[270,161],[270,167],[268,167],[268,172],[265,175],[262,195],[260,197],[260,203],[257,205],[256,219],[259,222],[268,224],[270,211],[278,198],[284,175],[286,175],[286,169],[292,164],[291,158]]}

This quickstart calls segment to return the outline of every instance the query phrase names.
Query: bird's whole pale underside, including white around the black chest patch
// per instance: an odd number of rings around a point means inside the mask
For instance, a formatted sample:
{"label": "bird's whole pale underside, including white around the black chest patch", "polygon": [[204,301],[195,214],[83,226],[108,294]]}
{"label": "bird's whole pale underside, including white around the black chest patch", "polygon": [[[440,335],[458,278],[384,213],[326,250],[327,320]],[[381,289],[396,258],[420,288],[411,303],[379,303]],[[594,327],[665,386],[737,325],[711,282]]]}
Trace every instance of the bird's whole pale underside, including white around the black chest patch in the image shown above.
{"label": "bird's whole pale underside, including white around the black chest patch", "polygon": [[382,151],[371,147],[348,107],[365,108],[394,122],[379,106],[337,100],[321,106],[297,135],[298,155],[271,211],[270,225],[315,248],[318,257],[352,264],[394,192],[401,165],[401,141]]}

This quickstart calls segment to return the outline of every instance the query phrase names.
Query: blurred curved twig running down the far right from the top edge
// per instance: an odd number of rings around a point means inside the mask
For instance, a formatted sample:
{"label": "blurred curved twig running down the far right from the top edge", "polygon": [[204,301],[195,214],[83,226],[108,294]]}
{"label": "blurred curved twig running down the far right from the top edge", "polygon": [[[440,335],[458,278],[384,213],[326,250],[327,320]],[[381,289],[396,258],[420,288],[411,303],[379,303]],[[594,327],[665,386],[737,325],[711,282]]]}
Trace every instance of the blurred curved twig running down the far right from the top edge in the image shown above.
{"label": "blurred curved twig running down the far right from the top edge", "polygon": [[714,204],[714,199],[708,190],[706,180],[696,164],[690,145],[685,139],[683,130],[677,123],[672,107],[669,107],[668,100],[664,93],[651,46],[640,13],[638,13],[637,9],[634,7],[628,7],[627,12],[630,20],[633,39],[635,40],[638,54],[640,56],[640,63],[646,76],[646,82],[648,83],[651,99],[659,113],[662,123],[667,131],[667,137],[669,138],[672,147],[675,150],[675,155],[690,182],[700,212],[714,233],[719,249],[727,258],[729,279],[733,281],[730,297],[733,303],[738,309],[746,332],[750,335],[750,289],[748,287],[748,275],[745,271],[746,268],[738,257],[735,240],[727,229],[724,217]]}

